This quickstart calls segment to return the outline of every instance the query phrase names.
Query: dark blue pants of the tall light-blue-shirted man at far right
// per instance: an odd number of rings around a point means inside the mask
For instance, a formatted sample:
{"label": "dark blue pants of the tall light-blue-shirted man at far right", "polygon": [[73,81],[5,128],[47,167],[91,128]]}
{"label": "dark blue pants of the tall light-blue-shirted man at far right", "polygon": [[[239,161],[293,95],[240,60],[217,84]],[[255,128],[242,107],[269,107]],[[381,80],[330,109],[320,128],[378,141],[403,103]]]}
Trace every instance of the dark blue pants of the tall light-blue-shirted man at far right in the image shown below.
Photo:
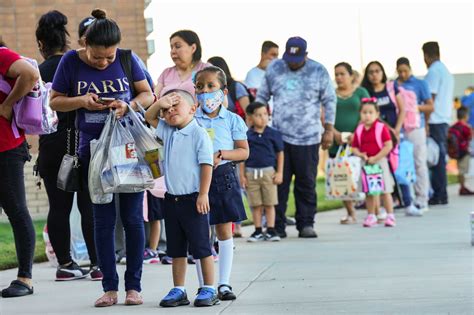
{"label": "dark blue pants of the tall light-blue-shirted man at far right", "polygon": [[446,154],[447,154],[447,138],[448,124],[430,124],[430,136],[439,145],[439,161],[431,170],[431,187],[433,188],[433,199],[447,201],[448,193],[446,186],[448,185],[446,175]]}

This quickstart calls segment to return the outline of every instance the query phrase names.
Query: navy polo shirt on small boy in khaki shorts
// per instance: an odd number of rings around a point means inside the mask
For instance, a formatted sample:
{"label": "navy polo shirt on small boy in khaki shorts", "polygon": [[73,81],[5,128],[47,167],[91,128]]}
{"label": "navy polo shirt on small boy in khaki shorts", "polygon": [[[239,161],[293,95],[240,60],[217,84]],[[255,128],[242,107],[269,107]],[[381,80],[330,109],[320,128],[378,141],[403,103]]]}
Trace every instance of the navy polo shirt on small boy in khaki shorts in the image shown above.
{"label": "navy polo shirt on small boy in khaki shorts", "polygon": [[266,127],[263,133],[256,132],[253,128],[247,131],[250,155],[245,166],[254,168],[276,167],[276,155],[283,151],[281,134],[272,127]]}

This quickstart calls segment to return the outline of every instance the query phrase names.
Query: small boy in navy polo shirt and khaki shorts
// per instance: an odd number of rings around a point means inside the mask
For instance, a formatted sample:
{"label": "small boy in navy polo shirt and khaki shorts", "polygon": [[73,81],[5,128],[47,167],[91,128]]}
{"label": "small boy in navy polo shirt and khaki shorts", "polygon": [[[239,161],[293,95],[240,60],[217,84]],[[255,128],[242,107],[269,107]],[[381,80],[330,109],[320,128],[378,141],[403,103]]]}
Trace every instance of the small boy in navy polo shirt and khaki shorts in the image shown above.
{"label": "small boy in navy polo shirt and khaki shorts", "polygon": [[[275,205],[278,204],[277,185],[283,181],[283,140],[277,130],[267,126],[265,104],[254,102],[247,106],[246,112],[252,125],[247,131],[250,155],[240,167],[240,182],[247,190],[255,225],[255,232],[247,241],[275,242],[280,240],[275,231]],[[263,209],[267,218],[265,234],[262,232]]]}

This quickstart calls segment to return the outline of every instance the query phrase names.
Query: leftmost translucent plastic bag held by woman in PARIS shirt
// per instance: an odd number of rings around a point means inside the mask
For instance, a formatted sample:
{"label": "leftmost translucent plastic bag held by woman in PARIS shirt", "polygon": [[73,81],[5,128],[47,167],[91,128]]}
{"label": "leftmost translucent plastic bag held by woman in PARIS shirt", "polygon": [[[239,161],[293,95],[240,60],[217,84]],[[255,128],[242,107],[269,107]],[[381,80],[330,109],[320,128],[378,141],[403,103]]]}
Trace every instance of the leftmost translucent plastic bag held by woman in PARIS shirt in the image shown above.
{"label": "leftmost translucent plastic bag held by woman in PARIS shirt", "polygon": [[89,164],[89,194],[92,203],[106,204],[111,203],[113,194],[105,193],[102,188],[102,170],[107,162],[110,139],[112,135],[112,126],[115,121],[115,113],[110,112],[105,121],[104,128],[100,134],[99,139],[92,140],[91,146],[91,161]]}

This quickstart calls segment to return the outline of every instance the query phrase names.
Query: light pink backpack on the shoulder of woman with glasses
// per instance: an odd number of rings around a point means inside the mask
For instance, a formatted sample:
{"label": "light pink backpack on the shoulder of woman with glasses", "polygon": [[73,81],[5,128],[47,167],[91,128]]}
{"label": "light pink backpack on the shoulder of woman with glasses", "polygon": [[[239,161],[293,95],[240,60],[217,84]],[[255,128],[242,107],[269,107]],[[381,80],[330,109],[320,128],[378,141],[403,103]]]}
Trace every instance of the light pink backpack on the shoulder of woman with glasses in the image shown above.
{"label": "light pink backpack on the shoulder of woman with glasses", "polygon": [[[390,95],[390,99],[396,105],[397,113],[399,112],[397,97],[395,95],[395,81],[387,82],[387,91]],[[406,131],[412,131],[418,129],[421,126],[421,117],[420,111],[418,109],[418,103],[416,99],[416,94],[413,91],[407,90],[401,86],[397,86],[398,93],[403,98],[404,111],[405,111],[405,120],[403,121],[403,128]]]}

